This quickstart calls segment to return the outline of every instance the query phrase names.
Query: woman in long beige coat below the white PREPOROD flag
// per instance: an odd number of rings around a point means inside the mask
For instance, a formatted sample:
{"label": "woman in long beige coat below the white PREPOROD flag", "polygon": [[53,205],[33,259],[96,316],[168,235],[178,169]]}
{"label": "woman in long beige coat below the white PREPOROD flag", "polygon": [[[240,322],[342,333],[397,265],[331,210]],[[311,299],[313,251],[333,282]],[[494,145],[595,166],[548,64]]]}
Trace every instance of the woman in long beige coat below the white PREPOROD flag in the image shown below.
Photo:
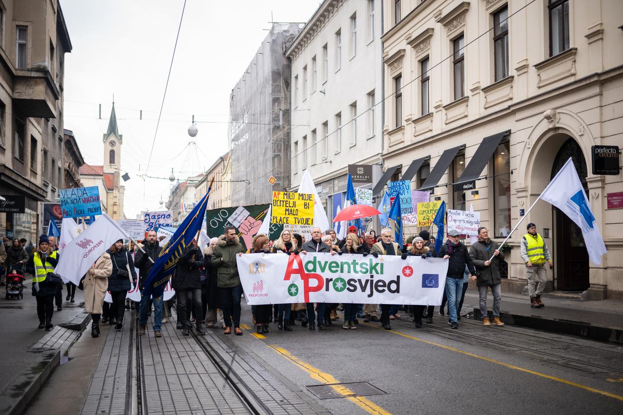
{"label": "woman in long beige coat below the white PREPOROD flag", "polygon": [[108,277],[113,272],[113,262],[110,254],[104,252],[95,261],[95,264],[88,269],[84,276],[84,309],[91,313],[93,323],[91,324],[91,336],[100,335],[100,316],[102,315],[102,304],[104,296],[108,290]]}

